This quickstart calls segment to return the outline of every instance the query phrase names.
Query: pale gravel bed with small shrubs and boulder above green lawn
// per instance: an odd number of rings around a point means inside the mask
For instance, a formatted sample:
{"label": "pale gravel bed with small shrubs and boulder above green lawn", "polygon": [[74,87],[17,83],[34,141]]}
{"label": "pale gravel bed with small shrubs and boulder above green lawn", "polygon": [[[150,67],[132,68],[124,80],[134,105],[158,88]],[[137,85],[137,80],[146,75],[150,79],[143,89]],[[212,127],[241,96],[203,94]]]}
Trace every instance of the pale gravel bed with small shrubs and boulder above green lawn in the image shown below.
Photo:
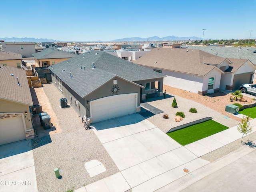
{"label": "pale gravel bed with small shrubs and boulder above green lawn", "polygon": [[[237,118],[237,120],[234,120],[232,118],[224,118],[224,115],[220,112],[217,112],[198,102],[194,102],[174,94],[167,94],[168,96],[166,96],[166,98],[161,97],[162,99],[160,100],[156,100],[156,98],[148,99],[148,104],[164,111],[164,113],[156,114],[148,118],[150,122],[152,122],[155,126],[160,128],[160,130],[162,130],[164,133],[168,132],[171,128],[174,128],[176,126],[180,126],[205,117],[212,117],[212,120],[224,126],[227,126],[228,128],[236,126],[239,123],[237,121],[240,120],[239,118]],[[176,108],[172,108],[172,101],[174,99],[174,96],[176,98],[176,102],[178,103]],[[190,108],[196,108],[198,112],[188,112]],[[174,117],[176,112],[178,111],[184,112],[185,118],[180,122],[175,122]],[[169,118],[164,119],[163,114],[168,114]]]}

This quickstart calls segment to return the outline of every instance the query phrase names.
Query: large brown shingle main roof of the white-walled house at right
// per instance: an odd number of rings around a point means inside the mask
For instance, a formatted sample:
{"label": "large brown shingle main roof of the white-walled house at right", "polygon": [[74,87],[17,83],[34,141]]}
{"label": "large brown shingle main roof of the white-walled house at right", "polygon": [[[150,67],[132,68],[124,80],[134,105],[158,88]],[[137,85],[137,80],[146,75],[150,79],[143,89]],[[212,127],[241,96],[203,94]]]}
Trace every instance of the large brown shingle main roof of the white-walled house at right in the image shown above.
{"label": "large brown shingle main roof of the white-walled house at right", "polygon": [[134,63],[156,69],[205,76],[216,67],[207,64],[218,65],[225,59],[201,50],[154,48]]}

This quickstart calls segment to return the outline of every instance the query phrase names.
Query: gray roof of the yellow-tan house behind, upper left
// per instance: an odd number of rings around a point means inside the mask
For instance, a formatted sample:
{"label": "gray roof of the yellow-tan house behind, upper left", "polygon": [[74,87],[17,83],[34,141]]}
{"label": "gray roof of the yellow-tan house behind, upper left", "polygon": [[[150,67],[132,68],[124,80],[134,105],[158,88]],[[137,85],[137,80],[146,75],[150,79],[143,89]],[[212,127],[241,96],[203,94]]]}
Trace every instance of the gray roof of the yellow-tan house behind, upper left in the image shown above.
{"label": "gray roof of the yellow-tan house behind, upper left", "polygon": [[56,59],[56,58],[72,58],[77,56],[74,53],[68,53],[59,49],[45,49],[41,52],[32,54],[36,59]]}

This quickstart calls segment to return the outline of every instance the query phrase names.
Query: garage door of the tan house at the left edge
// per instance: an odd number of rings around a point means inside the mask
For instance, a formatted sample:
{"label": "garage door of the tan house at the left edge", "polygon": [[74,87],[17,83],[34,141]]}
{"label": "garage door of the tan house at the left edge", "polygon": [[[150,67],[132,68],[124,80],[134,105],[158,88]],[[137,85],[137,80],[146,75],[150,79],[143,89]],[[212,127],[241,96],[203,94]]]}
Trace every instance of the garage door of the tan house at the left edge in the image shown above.
{"label": "garage door of the tan house at the left edge", "polygon": [[22,116],[0,119],[0,145],[26,139]]}

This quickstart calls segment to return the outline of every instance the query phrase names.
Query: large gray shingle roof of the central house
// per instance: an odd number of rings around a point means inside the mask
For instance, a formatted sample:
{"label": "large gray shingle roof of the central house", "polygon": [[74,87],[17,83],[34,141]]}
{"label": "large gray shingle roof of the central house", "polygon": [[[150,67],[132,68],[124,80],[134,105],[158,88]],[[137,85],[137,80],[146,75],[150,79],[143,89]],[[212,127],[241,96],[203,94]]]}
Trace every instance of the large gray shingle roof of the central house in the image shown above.
{"label": "large gray shingle roof of the central house", "polygon": [[[82,69],[78,65],[82,65]],[[48,68],[82,98],[116,76],[131,82],[165,77],[101,51],[90,51]]]}

